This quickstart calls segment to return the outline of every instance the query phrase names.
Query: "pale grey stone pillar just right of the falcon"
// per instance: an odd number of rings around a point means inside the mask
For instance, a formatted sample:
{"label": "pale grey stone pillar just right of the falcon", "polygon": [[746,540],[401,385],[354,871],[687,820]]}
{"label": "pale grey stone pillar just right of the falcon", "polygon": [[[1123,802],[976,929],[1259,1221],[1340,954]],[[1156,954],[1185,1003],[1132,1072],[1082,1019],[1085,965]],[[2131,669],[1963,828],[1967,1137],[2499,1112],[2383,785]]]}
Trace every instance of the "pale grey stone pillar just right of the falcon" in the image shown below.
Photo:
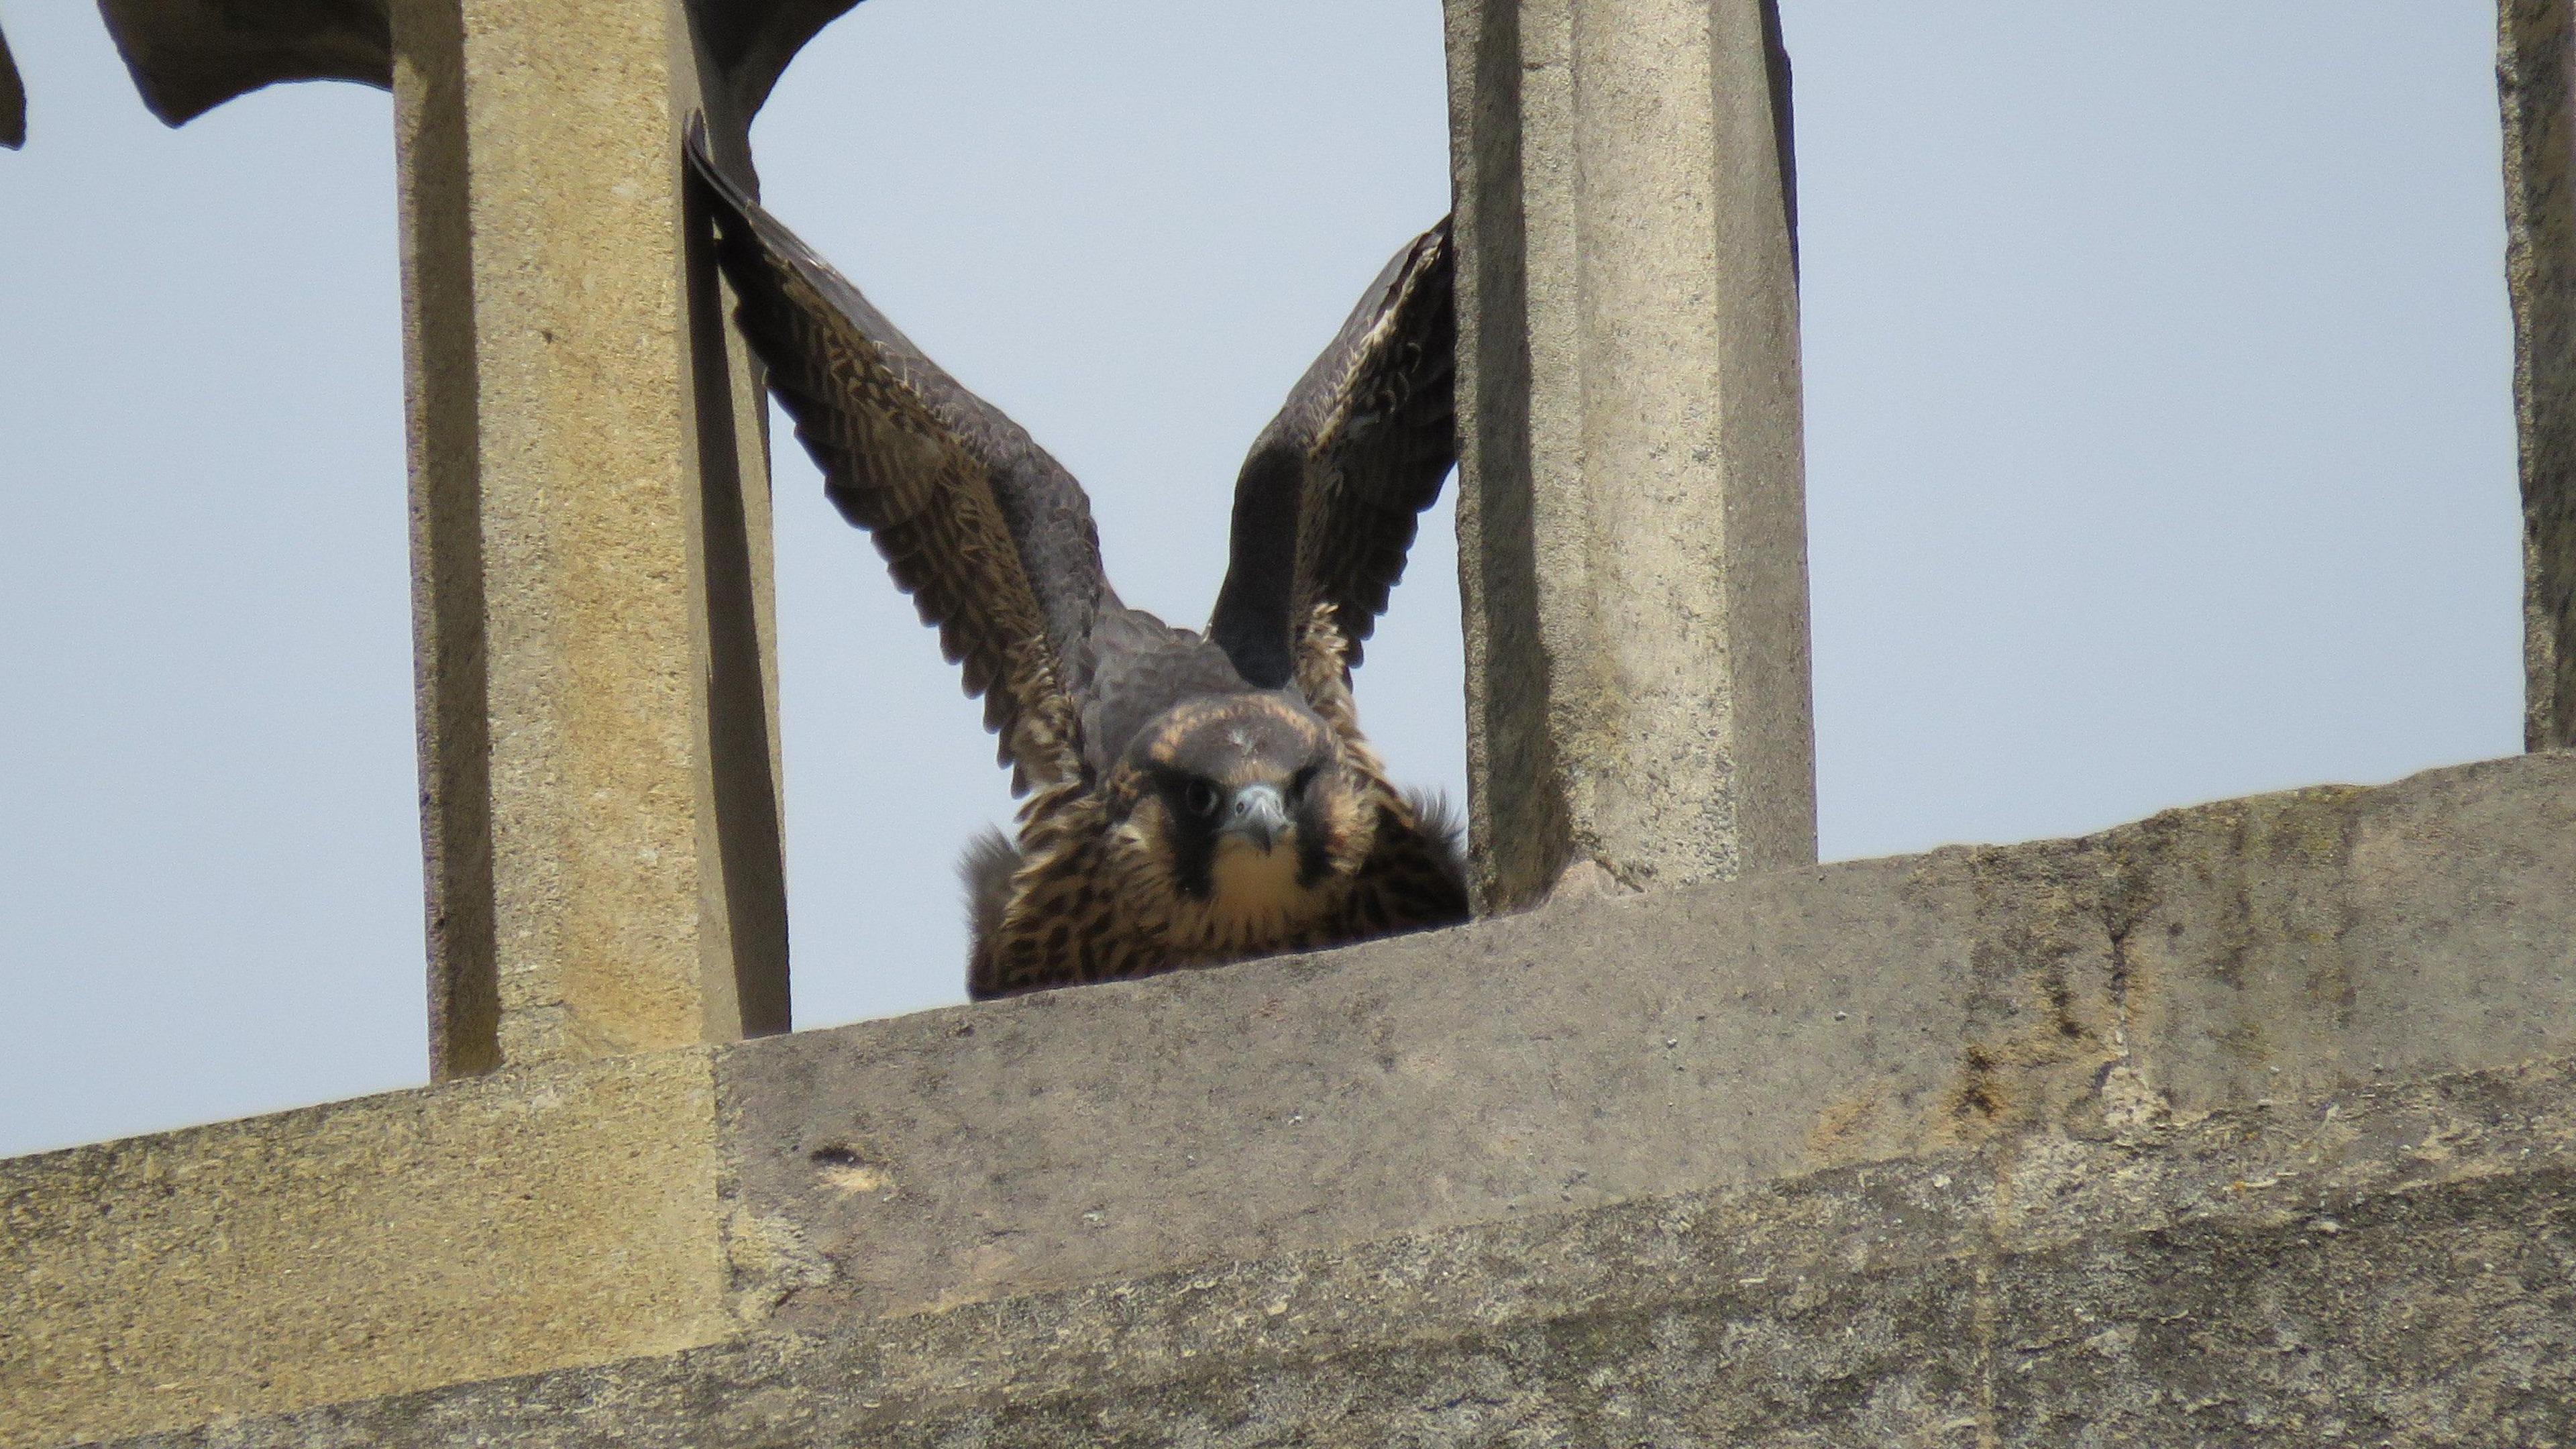
{"label": "pale grey stone pillar just right of the falcon", "polygon": [[1484,910],[1816,859],[1770,0],[1448,0]]}

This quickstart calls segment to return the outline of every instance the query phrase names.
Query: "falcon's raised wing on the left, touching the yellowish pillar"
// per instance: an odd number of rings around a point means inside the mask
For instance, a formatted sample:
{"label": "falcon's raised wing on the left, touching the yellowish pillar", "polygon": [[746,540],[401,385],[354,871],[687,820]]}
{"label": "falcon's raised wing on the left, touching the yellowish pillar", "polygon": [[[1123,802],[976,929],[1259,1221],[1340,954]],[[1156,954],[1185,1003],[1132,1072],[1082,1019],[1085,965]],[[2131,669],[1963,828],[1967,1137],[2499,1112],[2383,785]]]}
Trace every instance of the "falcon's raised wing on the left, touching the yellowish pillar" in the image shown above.
{"label": "falcon's raised wing on the left, touching the yellowish pillar", "polygon": [[744,196],[696,124],[688,157],[742,330],[832,503],[938,627],[966,694],[984,696],[1015,789],[1069,779],[1092,624],[1118,606],[1082,485]]}

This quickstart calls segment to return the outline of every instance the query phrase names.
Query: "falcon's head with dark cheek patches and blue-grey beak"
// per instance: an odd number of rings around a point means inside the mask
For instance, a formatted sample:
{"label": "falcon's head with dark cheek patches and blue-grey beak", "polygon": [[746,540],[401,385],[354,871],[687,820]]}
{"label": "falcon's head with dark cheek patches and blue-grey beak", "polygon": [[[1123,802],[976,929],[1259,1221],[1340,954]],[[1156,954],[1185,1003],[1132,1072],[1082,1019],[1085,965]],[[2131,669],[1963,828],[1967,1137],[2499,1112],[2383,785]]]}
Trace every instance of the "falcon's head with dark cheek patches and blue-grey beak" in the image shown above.
{"label": "falcon's head with dark cheek patches and blue-grey beak", "polygon": [[1218,933],[1321,913],[1376,835],[1340,740],[1285,691],[1175,704],[1136,732],[1118,776],[1121,843],[1170,882],[1177,915]]}

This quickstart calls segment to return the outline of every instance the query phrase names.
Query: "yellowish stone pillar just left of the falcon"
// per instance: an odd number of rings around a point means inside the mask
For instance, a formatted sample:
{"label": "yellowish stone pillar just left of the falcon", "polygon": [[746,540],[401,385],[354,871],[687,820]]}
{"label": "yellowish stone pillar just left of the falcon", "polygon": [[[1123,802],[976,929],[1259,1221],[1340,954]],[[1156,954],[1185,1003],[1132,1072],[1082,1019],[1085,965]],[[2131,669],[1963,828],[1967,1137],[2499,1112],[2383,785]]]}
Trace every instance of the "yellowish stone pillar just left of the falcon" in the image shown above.
{"label": "yellowish stone pillar just left of the falcon", "polygon": [[430,1062],[788,1026],[762,397],[683,0],[397,0]]}

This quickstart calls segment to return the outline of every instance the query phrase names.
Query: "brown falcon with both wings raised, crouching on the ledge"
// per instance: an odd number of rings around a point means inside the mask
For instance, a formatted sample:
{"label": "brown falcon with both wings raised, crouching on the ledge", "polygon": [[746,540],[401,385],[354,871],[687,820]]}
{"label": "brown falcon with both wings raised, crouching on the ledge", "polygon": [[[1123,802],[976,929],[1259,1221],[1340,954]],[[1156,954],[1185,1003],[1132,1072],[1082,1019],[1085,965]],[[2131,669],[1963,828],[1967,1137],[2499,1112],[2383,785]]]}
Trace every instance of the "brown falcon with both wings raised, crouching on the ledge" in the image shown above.
{"label": "brown falcon with both wings raised, crouching on the ledge", "polygon": [[966,990],[1012,995],[1466,920],[1458,825],[1396,789],[1350,668],[1455,462],[1448,222],[1252,441],[1208,629],[1128,608],[1082,485],[925,358],[690,131],[739,320],[840,513],[1002,737]]}

